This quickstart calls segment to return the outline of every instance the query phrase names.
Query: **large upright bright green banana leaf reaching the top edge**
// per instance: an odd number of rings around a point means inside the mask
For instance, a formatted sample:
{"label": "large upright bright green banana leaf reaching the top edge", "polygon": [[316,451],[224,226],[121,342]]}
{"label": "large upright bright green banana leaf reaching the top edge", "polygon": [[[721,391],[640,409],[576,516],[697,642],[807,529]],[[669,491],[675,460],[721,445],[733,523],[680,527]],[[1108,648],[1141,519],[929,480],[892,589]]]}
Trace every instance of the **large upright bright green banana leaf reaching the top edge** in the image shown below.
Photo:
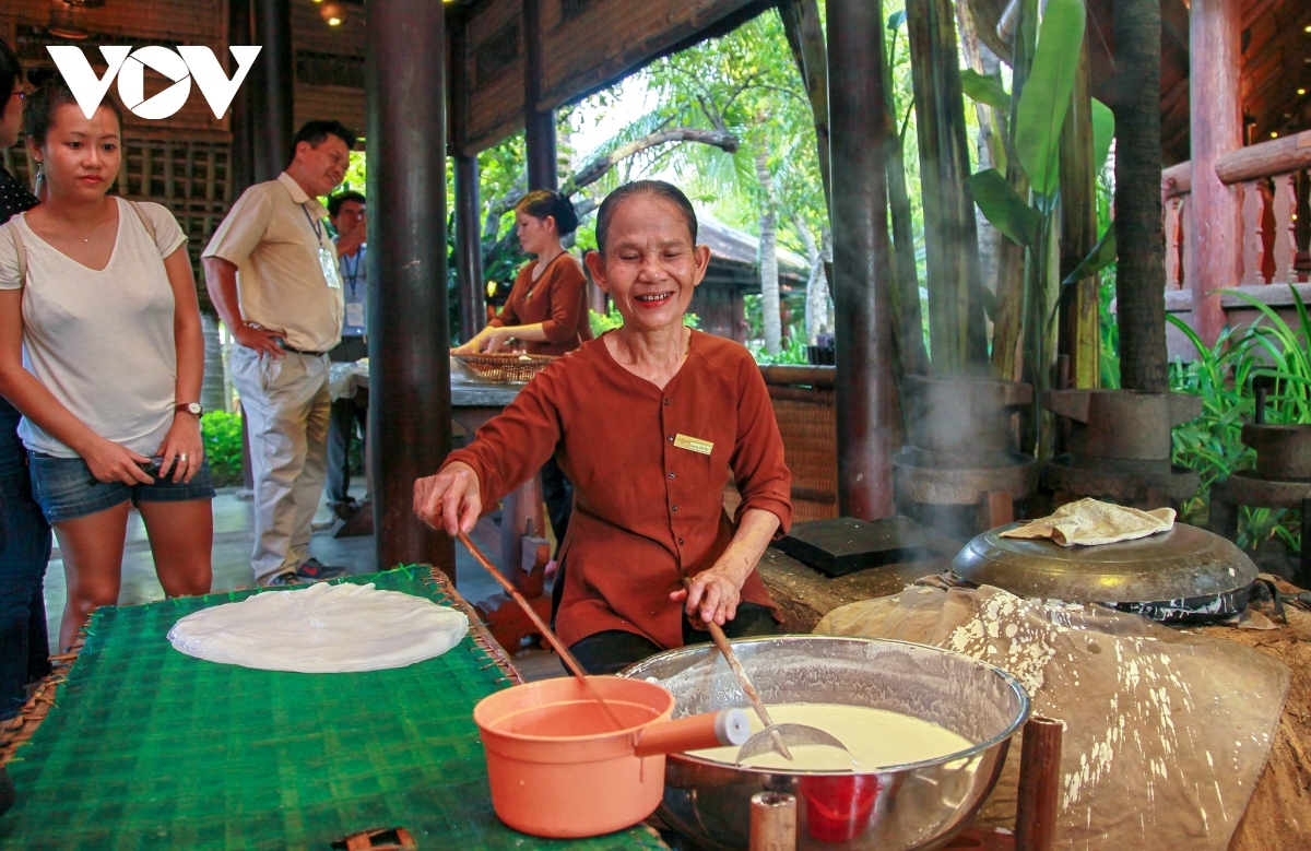
{"label": "large upright bright green banana leaf reaching the top edge", "polygon": [[1051,195],[1059,182],[1057,151],[1079,69],[1084,17],[1083,0],[1049,0],[1020,94],[1015,149],[1037,195]]}

